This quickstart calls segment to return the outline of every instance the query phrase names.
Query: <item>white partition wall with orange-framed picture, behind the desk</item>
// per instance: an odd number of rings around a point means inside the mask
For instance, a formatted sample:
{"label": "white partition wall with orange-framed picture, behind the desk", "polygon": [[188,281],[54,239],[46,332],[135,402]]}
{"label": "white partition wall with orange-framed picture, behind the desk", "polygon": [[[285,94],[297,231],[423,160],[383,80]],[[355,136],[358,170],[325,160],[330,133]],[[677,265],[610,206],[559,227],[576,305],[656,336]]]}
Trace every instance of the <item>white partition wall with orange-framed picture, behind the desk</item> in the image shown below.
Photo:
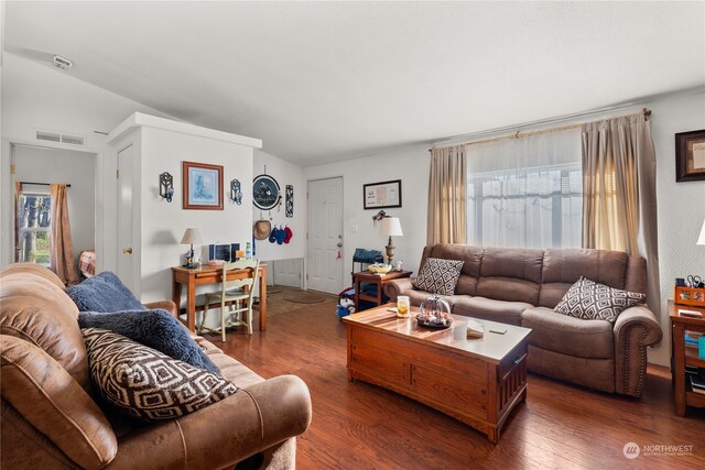
{"label": "white partition wall with orange-framed picture, behind the desk", "polygon": [[[128,142],[135,143],[139,175],[134,193],[138,211],[137,227],[133,227],[134,241],[139,247],[135,259],[140,260],[140,278],[134,283],[135,294],[142,302],[171,298],[171,267],[183,263],[187,245],[180,244],[187,228],[197,228],[204,244],[194,247],[196,258],[207,260],[209,243],[245,244],[252,237],[252,149],[231,142],[208,139],[165,129],[140,127],[124,138],[111,142],[109,157],[117,154]],[[112,162],[112,160],[110,160]],[[183,209],[182,162],[197,162],[224,167],[224,209],[194,210]],[[159,175],[169,172],[174,177],[174,198],[172,203],[159,195]],[[115,181],[113,167],[105,168],[106,179]],[[242,205],[237,206],[228,198],[230,179],[238,178],[242,184]],[[115,270],[117,261],[117,237],[113,229],[117,219],[117,194],[115,183],[106,184],[105,269]]]}

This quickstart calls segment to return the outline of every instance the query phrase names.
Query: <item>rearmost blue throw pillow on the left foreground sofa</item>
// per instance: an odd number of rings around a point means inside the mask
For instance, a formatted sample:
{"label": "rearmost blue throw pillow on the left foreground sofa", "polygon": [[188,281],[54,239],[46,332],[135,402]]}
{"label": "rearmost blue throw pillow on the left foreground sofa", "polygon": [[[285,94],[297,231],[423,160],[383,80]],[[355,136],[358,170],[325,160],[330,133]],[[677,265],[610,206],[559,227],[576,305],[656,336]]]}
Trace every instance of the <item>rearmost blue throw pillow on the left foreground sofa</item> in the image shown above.
{"label": "rearmost blue throw pillow on the left foreground sofa", "polygon": [[144,305],[109,271],[66,288],[78,311],[144,310]]}

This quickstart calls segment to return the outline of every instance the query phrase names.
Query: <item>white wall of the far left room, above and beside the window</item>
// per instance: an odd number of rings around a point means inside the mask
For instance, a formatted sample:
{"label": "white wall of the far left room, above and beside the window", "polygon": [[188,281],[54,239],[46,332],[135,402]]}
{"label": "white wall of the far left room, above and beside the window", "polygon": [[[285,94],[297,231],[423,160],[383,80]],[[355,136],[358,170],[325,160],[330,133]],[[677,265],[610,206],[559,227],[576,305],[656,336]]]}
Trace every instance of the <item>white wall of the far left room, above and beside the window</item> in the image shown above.
{"label": "white wall of the far left room, above and beside the window", "polygon": [[[15,145],[15,178],[21,182],[67,183],[74,261],[96,245],[96,155],[68,150]],[[42,188],[42,187],[40,187]],[[44,186],[48,193],[48,186]]]}

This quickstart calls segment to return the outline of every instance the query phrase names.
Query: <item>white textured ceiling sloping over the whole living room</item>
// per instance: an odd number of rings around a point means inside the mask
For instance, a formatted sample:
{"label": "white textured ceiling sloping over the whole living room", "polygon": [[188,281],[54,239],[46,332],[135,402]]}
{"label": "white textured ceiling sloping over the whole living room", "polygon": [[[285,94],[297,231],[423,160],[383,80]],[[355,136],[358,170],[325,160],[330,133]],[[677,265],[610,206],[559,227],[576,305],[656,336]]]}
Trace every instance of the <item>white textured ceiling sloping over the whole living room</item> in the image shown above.
{"label": "white textured ceiling sloping over the whole living room", "polygon": [[703,86],[705,3],[11,1],[6,47],[311,165]]}

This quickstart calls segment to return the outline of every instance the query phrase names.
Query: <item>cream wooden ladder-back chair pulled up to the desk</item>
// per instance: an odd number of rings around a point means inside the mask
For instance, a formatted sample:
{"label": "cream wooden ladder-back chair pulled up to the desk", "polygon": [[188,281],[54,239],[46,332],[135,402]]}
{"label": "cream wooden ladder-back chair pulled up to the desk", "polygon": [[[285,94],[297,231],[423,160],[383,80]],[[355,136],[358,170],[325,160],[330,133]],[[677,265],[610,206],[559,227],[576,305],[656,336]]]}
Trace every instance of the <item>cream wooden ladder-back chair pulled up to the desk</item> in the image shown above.
{"label": "cream wooden ladder-back chair pulled up to the desk", "polygon": [[[260,262],[257,259],[241,260],[234,263],[225,263],[223,265],[220,292],[206,294],[206,304],[204,306],[200,326],[198,327],[198,334],[204,329],[213,332],[220,332],[223,342],[225,342],[225,330],[227,327],[247,325],[247,332],[252,335],[252,299],[254,295],[254,286],[257,285],[257,278],[259,276],[259,269]],[[252,275],[243,280],[227,281],[228,271],[231,270],[251,270]],[[206,317],[208,316],[208,308],[212,302],[220,303],[220,328],[208,328],[205,326]],[[232,304],[230,304],[230,310],[226,313],[225,304],[227,302],[231,302]],[[227,314],[236,314],[237,317],[230,318],[226,321]]]}

